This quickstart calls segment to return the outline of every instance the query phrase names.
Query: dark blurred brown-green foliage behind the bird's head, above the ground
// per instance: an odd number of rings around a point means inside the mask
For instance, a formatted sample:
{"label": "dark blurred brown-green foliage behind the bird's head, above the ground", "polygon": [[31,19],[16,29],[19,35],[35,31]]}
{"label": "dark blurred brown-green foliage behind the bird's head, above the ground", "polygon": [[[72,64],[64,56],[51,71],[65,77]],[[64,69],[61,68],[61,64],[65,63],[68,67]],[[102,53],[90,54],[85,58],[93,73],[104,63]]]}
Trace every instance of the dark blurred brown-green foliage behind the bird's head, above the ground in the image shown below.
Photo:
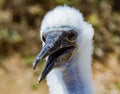
{"label": "dark blurred brown-green foliage behind the bird's head, above the ground", "polygon": [[120,59],[119,0],[0,0],[0,57],[37,54],[43,16],[62,4],[79,9],[95,28],[95,58],[115,53]]}

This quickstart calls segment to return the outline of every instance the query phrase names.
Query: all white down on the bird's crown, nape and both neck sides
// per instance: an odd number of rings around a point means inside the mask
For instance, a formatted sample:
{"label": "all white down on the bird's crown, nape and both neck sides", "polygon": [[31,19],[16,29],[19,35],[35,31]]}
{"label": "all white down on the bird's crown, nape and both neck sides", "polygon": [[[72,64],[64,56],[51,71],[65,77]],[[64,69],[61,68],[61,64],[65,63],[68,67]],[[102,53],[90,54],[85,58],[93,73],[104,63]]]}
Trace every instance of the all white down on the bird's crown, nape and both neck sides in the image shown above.
{"label": "all white down on the bird's crown, nape and both neck sides", "polygon": [[[79,10],[66,5],[58,6],[45,15],[41,24],[41,36],[51,30],[64,30],[65,28],[61,28],[61,26],[69,26],[77,30],[78,51],[74,59],[76,66],[79,66],[81,82],[86,86],[84,94],[94,94],[91,72],[92,38],[94,35],[92,25],[84,21]],[[61,76],[62,74],[58,70],[52,70],[48,74],[47,84],[51,94],[67,94]]]}

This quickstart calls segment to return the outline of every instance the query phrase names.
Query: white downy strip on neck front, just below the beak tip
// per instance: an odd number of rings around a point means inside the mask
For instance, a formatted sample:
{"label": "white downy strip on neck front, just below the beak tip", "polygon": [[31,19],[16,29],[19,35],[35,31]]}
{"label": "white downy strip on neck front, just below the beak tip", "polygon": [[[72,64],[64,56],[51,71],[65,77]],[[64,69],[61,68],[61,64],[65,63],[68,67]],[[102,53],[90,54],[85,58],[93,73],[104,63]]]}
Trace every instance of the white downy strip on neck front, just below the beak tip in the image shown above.
{"label": "white downy strip on neck front, just below the beak tip", "polygon": [[59,69],[53,69],[48,74],[46,80],[50,94],[68,94],[66,86],[62,80],[62,73]]}

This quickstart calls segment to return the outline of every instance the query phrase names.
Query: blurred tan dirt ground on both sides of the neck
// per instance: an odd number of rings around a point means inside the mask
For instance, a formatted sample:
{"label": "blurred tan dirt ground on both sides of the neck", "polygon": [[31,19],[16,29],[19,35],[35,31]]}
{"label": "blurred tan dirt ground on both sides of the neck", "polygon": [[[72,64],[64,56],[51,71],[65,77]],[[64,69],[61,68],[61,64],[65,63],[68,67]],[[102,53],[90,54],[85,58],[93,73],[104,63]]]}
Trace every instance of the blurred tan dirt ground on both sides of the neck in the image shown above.
{"label": "blurred tan dirt ground on both sides of the neck", "polygon": [[[96,94],[120,94],[120,65],[116,57],[109,55],[106,65],[98,61],[93,63]],[[45,81],[36,84],[39,68],[36,71],[18,54],[3,60],[0,64],[0,94],[49,94]]]}

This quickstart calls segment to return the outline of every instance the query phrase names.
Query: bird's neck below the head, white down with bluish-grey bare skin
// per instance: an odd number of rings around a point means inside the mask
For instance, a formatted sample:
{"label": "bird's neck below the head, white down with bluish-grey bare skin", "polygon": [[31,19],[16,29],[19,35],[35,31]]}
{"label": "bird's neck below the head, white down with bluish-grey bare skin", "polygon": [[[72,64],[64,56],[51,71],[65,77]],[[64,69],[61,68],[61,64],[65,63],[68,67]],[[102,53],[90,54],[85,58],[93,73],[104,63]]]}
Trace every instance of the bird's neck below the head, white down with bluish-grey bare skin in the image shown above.
{"label": "bird's neck below the head, white down with bluish-grey bare skin", "polygon": [[92,45],[77,51],[69,65],[53,69],[47,76],[50,94],[94,94],[91,71]]}

